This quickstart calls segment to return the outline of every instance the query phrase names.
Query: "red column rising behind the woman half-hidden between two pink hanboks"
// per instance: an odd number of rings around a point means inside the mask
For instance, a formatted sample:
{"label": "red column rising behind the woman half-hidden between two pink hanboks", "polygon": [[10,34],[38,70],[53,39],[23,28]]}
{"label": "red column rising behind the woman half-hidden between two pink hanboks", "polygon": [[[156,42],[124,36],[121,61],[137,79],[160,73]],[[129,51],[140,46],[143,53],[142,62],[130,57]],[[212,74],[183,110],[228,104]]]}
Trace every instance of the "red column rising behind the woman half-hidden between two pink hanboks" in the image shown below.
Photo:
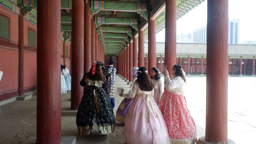
{"label": "red column rising behind the woman half-hidden between two pink hanboks", "polygon": [[156,19],[148,20],[148,70],[156,66]]}

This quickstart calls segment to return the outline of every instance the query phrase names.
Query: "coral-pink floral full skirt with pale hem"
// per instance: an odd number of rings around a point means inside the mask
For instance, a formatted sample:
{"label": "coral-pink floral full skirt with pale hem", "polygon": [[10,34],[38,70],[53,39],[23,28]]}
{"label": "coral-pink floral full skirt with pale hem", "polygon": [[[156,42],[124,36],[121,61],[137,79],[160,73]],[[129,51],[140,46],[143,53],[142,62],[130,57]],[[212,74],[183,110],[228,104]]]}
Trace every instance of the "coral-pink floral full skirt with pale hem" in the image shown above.
{"label": "coral-pink floral full skirt with pale hem", "polygon": [[182,95],[165,90],[160,100],[159,109],[167,125],[171,143],[195,143],[196,126]]}

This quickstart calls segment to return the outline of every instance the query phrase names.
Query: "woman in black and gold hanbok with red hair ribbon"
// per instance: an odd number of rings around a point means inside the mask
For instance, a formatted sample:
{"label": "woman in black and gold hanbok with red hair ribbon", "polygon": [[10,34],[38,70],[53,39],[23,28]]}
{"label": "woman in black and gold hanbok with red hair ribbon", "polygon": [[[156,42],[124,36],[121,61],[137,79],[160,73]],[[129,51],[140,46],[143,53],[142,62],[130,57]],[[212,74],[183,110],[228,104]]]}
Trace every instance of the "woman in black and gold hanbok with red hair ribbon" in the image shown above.
{"label": "woman in black and gold hanbok with red hair ribbon", "polygon": [[94,62],[90,71],[80,81],[86,86],[81,99],[76,125],[79,135],[93,132],[93,123],[97,123],[99,134],[111,134],[115,130],[115,115],[109,98],[103,88],[107,87],[106,78],[101,71],[101,62]]}

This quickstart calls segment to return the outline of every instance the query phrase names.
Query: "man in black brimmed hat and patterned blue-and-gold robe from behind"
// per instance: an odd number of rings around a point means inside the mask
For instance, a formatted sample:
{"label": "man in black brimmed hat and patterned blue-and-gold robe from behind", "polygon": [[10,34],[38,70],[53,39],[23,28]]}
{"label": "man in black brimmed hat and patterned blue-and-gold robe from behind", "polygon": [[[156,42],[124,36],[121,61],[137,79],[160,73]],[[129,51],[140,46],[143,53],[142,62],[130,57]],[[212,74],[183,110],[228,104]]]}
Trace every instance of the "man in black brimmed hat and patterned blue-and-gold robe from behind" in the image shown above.
{"label": "man in black brimmed hat and patterned blue-and-gold robe from behind", "polygon": [[109,101],[111,103],[112,109],[115,109],[115,92],[114,92],[114,88],[115,88],[115,75],[116,75],[116,68],[114,68],[114,57],[110,56],[108,64],[109,66],[105,69],[104,71],[104,75],[106,77],[107,80],[107,89],[106,89],[106,93],[109,96]]}

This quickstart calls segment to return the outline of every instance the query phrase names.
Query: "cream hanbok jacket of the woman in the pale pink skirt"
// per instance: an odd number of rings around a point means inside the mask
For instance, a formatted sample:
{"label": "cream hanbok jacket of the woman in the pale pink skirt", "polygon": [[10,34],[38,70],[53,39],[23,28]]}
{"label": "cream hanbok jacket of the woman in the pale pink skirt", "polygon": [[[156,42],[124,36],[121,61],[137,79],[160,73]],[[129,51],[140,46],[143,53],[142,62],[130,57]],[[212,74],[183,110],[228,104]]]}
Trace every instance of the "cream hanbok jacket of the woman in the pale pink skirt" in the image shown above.
{"label": "cream hanbok jacket of the woman in the pale pink skirt", "polygon": [[152,94],[154,95],[154,89],[152,91],[142,91],[139,88],[139,85],[137,83],[137,80],[134,81],[132,88],[129,90],[128,94],[123,94],[123,97],[125,98],[134,98],[135,95],[148,95],[148,94]]}

